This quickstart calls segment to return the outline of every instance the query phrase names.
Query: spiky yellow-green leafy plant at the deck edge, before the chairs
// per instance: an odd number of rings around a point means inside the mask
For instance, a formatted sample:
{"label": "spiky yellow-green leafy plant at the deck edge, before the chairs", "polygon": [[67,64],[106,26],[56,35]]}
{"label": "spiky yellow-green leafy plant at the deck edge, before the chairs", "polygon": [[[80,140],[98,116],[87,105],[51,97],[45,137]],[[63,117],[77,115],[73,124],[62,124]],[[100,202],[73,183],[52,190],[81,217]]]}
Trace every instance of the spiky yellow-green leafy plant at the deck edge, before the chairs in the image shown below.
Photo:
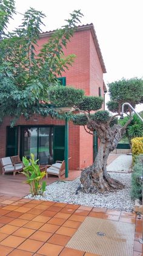
{"label": "spiky yellow-green leafy plant at the deck edge, before the chairs", "polygon": [[35,156],[31,154],[31,158],[28,160],[26,157],[22,158],[24,163],[23,174],[27,177],[25,183],[30,185],[30,192],[32,196],[42,195],[45,191],[46,182],[42,181],[45,176],[45,171],[40,171],[38,160],[35,160]]}

